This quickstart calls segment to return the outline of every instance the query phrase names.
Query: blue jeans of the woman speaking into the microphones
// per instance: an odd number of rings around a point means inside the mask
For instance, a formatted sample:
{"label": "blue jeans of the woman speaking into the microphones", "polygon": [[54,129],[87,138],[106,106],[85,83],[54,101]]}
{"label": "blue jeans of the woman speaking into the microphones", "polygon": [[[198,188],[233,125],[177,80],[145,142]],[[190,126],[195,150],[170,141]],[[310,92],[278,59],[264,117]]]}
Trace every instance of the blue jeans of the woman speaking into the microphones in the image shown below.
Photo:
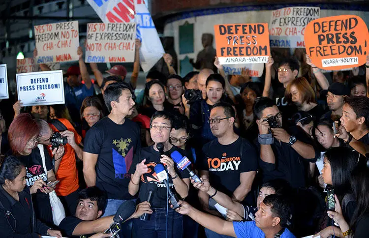
{"label": "blue jeans of the woman speaking into the microphones", "polygon": [[[133,220],[133,227],[136,236],[139,238],[166,238],[166,209],[167,208],[152,208],[153,214],[149,220],[141,221],[140,219]],[[175,210],[168,209],[168,237],[167,238],[182,238],[183,231],[183,216]]]}

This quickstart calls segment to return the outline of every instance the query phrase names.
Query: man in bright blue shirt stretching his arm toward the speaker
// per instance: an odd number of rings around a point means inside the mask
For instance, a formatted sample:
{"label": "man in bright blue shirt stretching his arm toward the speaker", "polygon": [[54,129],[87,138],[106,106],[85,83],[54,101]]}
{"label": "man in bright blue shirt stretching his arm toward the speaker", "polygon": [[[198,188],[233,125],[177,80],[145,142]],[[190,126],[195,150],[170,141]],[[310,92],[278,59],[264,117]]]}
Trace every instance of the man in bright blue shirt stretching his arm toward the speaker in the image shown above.
{"label": "man in bright blue shirt stretching his arm toward the speaker", "polygon": [[219,217],[204,213],[193,208],[184,201],[180,201],[180,208],[176,211],[190,216],[205,228],[218,234],[236,238],[295,238],[286,228],[290,215],[290,207],[281,195],[272,194],[265,197],[255,213],[254,221],[229,222]]}

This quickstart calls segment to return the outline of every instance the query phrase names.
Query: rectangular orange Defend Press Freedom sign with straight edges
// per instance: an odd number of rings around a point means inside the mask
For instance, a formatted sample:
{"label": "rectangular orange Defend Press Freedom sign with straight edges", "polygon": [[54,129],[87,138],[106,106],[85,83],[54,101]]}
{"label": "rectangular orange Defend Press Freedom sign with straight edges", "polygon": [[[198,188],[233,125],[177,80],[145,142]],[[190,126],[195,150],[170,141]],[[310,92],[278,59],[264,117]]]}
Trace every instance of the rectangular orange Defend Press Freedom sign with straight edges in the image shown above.
{"label": "rectangular orange Defend Press Freedom sign with straight edges", "polygon": [[215,25],[216,56],[221,64],[266,63],[270,55],[267,23]]}

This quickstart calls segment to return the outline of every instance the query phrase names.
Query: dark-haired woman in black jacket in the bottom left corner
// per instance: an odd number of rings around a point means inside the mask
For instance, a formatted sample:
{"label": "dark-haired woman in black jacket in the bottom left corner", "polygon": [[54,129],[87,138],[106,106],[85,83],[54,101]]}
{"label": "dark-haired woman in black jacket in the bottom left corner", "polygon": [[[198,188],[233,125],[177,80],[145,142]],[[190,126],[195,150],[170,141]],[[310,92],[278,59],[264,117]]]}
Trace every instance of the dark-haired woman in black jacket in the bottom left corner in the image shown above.
{"label": "dark-haired woman in black jacket in the bottom left corner", "polygon": [[0,165],[0,227],[0,237],[62,237],[60,231],[35,219],[26,168],[14,156],[6,157]]}

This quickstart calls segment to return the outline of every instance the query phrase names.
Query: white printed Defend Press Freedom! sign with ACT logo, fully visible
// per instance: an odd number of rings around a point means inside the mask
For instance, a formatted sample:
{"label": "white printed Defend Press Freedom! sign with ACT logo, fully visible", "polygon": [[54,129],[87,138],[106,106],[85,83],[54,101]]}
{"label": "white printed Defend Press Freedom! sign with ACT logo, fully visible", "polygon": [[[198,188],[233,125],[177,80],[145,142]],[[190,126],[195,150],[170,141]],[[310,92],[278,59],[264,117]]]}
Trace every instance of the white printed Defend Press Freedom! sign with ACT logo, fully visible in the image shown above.
{"label": "white printed Defend Press Freedom! sign with ACT logo, fully visible", "polygon": [[63,71],[16,74],[18,100],[24,106],[64,104]]}

